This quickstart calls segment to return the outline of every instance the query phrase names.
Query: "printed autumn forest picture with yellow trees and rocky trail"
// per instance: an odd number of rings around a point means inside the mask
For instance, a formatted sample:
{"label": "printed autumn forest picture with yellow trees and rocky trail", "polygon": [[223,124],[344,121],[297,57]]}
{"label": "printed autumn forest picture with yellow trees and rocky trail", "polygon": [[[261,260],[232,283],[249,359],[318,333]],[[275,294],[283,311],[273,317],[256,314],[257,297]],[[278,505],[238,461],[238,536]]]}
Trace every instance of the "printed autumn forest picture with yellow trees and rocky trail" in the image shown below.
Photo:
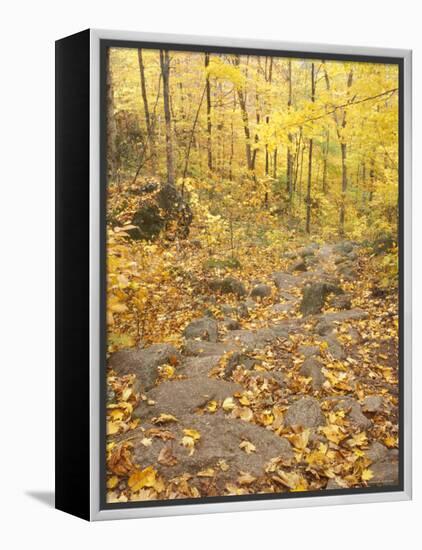
{"label": "printed autumn forest picture with yellow trees and rocky trail", "polygon": [[397,486],[398,66],[106,61],[107,502]]}

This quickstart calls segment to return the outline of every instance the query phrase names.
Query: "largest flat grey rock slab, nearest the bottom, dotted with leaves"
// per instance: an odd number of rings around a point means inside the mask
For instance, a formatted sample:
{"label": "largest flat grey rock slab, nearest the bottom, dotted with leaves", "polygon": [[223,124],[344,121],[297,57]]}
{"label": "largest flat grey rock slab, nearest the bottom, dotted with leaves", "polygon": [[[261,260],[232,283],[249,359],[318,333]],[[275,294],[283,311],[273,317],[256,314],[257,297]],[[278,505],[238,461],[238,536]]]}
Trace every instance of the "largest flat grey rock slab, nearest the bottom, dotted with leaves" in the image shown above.
{"label": "largest flat grey rock slab, nearest the bottom, dotted with leaves", "polygon": [[[231,419],[223,413],[206,415],[187,415],[178,423],[166,425],[175,439],[162,441],[152,438],[152,444],[145,447],[141,440],[144,433],[138,437],[131,436],[134,445],[134,457],[141,468],[153,466],[166,479],[189,473],[195,476],[208,468],[215,471],[215,482],[224,486],[226,481],[235,482],[240,472],[247,472],[253,476],[264,474],[266,464],[275,457],[292,458],[293,451],[287,439],[280,437],[263,427],[243,420]],[[193,454],[182,444],[183,429],[194,429],[200,434],[195,444]],[[132,432],[133,434],[133,432]],[[248,441],[255,446],[256,451],[246,453],[239,445]],[[162,449],[167,447],[177,463],[172,465],[160,464],[158,456]],[[228,469],[221,470],[219,461],[223,460]]]}

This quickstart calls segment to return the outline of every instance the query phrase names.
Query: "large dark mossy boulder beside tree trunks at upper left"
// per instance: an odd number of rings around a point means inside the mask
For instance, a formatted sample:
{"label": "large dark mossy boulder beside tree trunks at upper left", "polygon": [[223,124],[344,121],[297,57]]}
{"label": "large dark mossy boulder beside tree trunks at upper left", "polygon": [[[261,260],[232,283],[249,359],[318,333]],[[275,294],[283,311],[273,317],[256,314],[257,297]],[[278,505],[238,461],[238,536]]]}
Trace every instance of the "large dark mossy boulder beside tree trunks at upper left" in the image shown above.
{"label": "large dark mossy boulder beside tree trunks at upper left", "polygon": [[139,207],[128,230],[133,239],[154,240],[170,224],[173,237],[186,238],[193,214],[189,204],[175,185],[149,183],[141,188]]}

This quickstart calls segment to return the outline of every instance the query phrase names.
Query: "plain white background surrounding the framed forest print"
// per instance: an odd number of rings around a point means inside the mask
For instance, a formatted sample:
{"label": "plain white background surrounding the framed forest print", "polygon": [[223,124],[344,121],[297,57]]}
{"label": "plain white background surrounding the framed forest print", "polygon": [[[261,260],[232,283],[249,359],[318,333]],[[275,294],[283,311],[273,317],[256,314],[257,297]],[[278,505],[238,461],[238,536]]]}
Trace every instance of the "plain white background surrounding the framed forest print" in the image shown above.
{"label": "plain white background surrounding the framed forest print", "polygon": [[[420,543],[421,215],[414,209],[414,500],[88,524],[42,503],[54,486],[54,40],[88,27],[414,49],[416,0],[5,2],[0,32],[0,540],[4,548],[409,548]],[[419,116],[418,116],[419,115]],[[414,133],[414,204],[422,147]],[[420,210],[420,207],[419,207]],[[78,388],[69,388],[78,407]],[[70,435],[78,444],[77,432]],[[31,496],[32,495],[32,496]],[[419,523],[419,524],[418,524]],[[412,542],[411,542],[412,541]]]}

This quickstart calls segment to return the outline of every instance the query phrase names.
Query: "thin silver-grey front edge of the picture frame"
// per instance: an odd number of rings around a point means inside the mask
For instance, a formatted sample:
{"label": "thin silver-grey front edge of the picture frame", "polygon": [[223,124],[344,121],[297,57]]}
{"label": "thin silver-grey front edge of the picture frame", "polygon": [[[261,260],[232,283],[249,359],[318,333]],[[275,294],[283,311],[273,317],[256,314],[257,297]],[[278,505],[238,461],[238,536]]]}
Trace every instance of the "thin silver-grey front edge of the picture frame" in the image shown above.
{"label": "thin silver-grey front edge of the picture frame", "polygon": [[[242,502],[198,503],[148,508],[100,508],[100,40],[127,40],[157,43],[180,43],[199,46],[240,47],[289,50],[294,52],[334,53],[397,57],[404,60],[404,365],[403,418],[404,434],[404,490],[383,493],[310,496],[289,499],[252,500]],[[279,42],[208,36],[142,33],[90,29],[90,519],[113,520],[129,518],[164,517],[187,514],[260,511],[338,504],[376,503],[411,500],[412,498],[412,51],[404,49],[373,48]]]}

